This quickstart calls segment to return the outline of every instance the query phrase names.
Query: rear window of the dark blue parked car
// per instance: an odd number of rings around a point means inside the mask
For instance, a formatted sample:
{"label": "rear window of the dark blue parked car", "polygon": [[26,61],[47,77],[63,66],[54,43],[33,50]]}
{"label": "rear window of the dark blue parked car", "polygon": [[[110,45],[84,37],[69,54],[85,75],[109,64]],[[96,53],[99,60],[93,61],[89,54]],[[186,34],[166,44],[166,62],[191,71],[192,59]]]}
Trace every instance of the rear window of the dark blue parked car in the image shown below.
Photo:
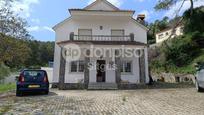
{"label": "rear window of the dark blue parked car", "polygon": [[46,73],[44,71],[40,71],[40,70],[26,70],[23,72],[23,76],[25,78],[25,81],[42,81],[44,79],[44,76],[46,75]]}

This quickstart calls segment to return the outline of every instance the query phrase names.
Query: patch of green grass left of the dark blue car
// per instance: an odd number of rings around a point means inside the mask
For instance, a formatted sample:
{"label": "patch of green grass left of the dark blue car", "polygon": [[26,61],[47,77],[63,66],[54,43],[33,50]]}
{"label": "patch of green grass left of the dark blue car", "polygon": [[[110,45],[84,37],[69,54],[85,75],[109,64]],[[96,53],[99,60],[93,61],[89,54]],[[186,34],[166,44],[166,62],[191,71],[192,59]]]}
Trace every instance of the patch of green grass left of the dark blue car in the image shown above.
{"label": "patch of green grass left of the dark blue car", "polygon": [[10,90],[15,90],[16,84],[10,83],[10,84],[0,84],[0,93],[4,93]]}

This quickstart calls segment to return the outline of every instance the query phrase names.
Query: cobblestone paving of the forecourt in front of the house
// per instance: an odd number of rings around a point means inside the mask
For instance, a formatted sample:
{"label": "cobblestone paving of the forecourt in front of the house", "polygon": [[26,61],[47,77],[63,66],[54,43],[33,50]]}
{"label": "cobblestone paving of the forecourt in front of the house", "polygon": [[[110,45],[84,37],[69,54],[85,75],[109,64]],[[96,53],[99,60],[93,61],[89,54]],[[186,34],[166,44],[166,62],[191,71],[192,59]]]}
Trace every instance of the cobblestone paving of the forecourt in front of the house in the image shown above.
{"label": "cobblestone paving of the forecourt in front of the house", "polygon": [[194,88],[115,91],[51,90],[0,99],[0,115],[204,115],[204,93]]}

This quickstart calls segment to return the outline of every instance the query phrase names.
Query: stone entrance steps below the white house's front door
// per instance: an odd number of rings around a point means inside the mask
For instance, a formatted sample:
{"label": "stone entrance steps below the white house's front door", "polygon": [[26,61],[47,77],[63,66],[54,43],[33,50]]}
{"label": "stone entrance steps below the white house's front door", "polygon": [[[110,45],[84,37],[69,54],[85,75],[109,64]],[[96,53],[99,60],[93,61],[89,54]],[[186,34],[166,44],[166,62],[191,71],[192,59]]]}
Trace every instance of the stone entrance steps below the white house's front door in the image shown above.
{"label": "stone entrance steps below the white house's front door", "polygon": [[118,85],[116,83],[89,83],[88,89],[90,90],[116,90]]}

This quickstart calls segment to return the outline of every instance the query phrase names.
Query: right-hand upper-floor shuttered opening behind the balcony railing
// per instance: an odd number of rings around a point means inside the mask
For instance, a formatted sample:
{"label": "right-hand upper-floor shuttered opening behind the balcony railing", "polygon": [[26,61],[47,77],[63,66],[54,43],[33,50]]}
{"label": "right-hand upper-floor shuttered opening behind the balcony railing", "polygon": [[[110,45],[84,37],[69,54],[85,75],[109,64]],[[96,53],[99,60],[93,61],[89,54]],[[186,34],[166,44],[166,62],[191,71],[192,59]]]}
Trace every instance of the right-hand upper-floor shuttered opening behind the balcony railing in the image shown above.
{"label": "right-hand upper-floor shuttered opening behind the balcony railing", "polygon": [[111,30],[111,38],[115,41],[120,41],[124,39],[125,31],[124,30]]}

